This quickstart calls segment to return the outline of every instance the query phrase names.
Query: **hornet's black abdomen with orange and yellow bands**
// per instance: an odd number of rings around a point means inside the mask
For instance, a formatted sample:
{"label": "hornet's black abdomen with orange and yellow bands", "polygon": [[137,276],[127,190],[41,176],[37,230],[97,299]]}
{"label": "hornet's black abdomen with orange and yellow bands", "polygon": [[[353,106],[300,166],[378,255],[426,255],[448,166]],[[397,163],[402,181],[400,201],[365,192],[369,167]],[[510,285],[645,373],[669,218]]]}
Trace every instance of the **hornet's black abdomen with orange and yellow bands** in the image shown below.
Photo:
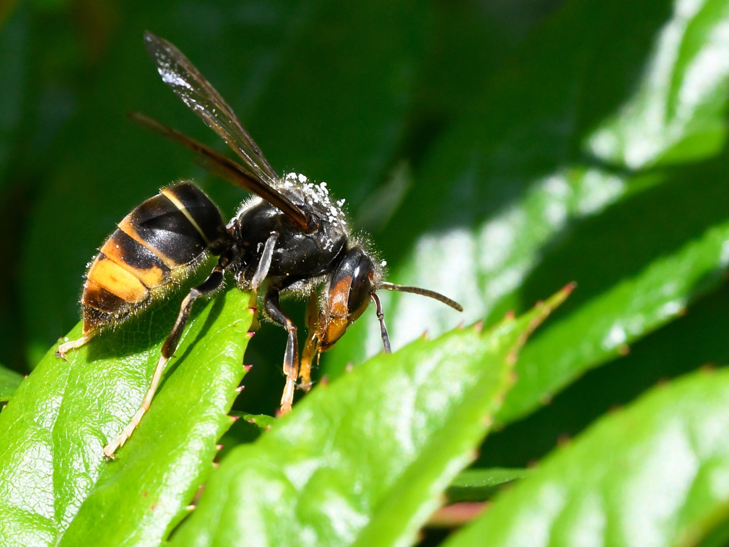
{"label": "hornet's black abdomen with orange and yellow bands", "polygon": [[117,226],[86,274],[84,335],[145,306],[225,238],[217,206],[189,182],[160,190]]}

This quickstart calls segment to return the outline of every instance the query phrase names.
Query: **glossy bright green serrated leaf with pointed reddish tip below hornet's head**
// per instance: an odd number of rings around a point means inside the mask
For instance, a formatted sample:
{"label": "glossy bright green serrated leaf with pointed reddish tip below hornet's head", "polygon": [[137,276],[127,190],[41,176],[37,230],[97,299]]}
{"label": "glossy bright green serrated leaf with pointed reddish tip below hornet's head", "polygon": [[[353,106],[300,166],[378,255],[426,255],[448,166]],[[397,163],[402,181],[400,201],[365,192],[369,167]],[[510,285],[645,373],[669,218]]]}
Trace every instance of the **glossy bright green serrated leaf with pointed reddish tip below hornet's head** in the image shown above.
{"label": "glossy bright green serrated leaf with pointed reddish tip below hornet's head", "polygon": [[174,545],[410,543],[474,457],[515,352],[568,294],[491,330],[453,330],[319,384],[211,476]]}

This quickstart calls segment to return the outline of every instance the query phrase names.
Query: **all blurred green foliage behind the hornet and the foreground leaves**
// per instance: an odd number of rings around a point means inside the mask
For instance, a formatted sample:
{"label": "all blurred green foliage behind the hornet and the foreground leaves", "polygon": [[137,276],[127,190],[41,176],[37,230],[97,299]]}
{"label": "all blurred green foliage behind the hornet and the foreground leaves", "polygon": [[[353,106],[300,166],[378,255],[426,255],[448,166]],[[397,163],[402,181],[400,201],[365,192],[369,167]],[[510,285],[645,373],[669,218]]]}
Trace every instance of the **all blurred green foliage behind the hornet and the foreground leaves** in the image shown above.
{"label": "all blurred green foliage behind the hornet and the foreground leaves", "polygon": [[[395,348],[461,321],[498,325],[577,282],[526,344],[496,414],[508,427],[481,446],[478,465],[523,468],[653,384],[729,360],[727,0],[36,0],[1,7],[0,18],[0,362],[16,371],[0,368],[0,398],[77,322],[85,264],[133,206],[187,178],[227,217],[244,197],[126,120],[140,110],[225,150],[159,81],[145,29],[187,54],[279,173],[325,180],[346,198],[392,281],[464,303],[459,315],[383,295]],[[302,323],[303,306],[286,306]],[[236,408],[273,414],[284,342],[269,325],[252,340]],[[380,348],[370,310],[320,374],[335,379]],[[671,389],[690,411],[694,387],[713,381]],[[650,397],[631,409],[646,423],[665,403]],[[723,423],[714,407],[706,419]],[[499,511],[526,526],[515,516],[539,485],[563,481],[560,465],[599,459],[588,452],[622,435],[625,420],[609,416],[545,474],[529,473]],[[226,443],[266,439],[242,425]],[[85,522],[113,505],[107,478]],[[685,521],[701,535],[715,507],[695,499],[676,503],[701,506]],[[84,521],[75,526],[84,535]]]}

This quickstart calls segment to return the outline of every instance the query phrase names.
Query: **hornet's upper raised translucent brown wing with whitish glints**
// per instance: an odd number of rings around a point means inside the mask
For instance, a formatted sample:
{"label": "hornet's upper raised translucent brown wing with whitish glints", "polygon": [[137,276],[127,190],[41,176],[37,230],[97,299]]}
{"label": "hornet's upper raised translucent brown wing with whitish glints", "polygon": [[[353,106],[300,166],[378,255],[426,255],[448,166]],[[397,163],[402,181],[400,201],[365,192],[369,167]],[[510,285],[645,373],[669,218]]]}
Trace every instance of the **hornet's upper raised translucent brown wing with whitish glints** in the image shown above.
{"label": "hornet's upper raised translucent brown wing with whitish glints", "polygon": [[149,31],[144,33],[144,47],[157,64],[163,82],[227,142],[254,175],[259,176],[262,182],[273,185],[278,180],[276,171],[273,171],[258,145],[243,129],[233,109],[187,57],[170,42]]}

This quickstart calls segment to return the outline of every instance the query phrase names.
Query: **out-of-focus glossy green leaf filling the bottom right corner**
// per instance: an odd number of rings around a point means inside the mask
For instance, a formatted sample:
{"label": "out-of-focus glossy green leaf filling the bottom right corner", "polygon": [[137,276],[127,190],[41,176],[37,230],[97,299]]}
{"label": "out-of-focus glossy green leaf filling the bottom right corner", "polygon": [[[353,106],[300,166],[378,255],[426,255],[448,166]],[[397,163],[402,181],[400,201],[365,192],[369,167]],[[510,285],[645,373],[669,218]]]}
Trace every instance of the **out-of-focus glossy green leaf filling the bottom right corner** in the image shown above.
{"label": "out-of-focus glossy green leaf filling the bottom right corner", "polygon": [[729,370],[599,420],[445,547],[693,546],[729,519]]}

